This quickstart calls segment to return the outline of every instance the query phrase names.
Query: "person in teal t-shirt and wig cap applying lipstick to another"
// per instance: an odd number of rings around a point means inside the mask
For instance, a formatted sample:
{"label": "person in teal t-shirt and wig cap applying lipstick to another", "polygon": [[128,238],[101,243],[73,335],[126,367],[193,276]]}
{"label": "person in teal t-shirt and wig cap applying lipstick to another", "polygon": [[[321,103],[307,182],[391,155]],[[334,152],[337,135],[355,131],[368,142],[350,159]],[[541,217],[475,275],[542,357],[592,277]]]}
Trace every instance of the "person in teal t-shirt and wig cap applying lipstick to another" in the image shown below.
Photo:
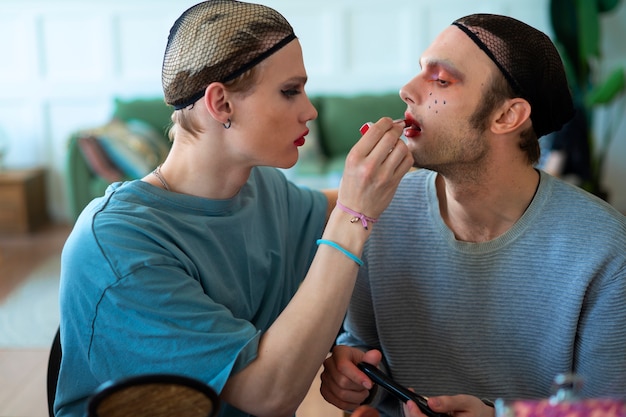
{"label": "person in teal t-shirt and wig cap applying lipstick to another", "polygon": [[337,191],[287,181],[276,168],[295,164],[317,112],[292,27],[257,4],[185,11],[162,78],[169,155],[92,201],[63,250],[56,415],[82,416],[102,383],[146,373],[206,382],[222,416],[293,415],[412,165],[402,126],[371,126]]}

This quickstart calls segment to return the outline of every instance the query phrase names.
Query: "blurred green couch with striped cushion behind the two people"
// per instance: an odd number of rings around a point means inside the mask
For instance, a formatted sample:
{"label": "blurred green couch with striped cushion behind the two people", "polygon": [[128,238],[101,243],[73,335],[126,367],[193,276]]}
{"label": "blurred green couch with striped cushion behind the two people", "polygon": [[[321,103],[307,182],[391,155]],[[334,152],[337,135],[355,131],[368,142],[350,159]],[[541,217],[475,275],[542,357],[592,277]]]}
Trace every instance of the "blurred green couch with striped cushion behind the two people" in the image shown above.
{"label": "blurred green couch with striped cushion behind the two people", "polygon": [[[340,176],[346,154],[363,123],[382,116],[400,118],[405,104],[398,93],[316,95],[318,118],[292,169],[296,176]],[[71,134],[66,181],[70,216],[75,220],[113,181],[139,178],[156,167],[169,149],[171,107],[159,98],[115,100],[111,121]]]}

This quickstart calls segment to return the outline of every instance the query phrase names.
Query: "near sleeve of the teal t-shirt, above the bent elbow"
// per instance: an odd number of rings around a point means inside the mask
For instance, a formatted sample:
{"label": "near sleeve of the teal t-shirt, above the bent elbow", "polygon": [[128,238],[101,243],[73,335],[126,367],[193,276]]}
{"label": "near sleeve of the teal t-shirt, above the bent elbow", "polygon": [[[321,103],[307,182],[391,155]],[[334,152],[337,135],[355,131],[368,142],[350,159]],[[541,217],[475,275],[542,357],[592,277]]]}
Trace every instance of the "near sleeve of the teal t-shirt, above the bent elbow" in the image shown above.
{"label": "near sleeve of the teal t-shirt, above the bent elbow", "polygon": [[120,279],[104,290],[97,311],[90,344],[96,375],[176,373],[220,392],[233,369],[256,357],[260,331],[173,267],[145,267]]}

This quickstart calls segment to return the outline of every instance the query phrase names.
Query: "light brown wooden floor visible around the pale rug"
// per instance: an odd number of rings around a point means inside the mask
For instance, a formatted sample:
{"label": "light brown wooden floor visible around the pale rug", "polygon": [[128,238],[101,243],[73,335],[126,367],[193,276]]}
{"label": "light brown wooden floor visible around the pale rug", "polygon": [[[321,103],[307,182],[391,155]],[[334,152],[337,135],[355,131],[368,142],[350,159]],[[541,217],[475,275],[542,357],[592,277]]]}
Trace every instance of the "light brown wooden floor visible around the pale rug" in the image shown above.
{"label": "light brown wooden floor visible around the pale rug", "polygon": [[[50,225],[30,235],[0,235],[0,303],[39,262],[60,254],[69,231],[67,225]],[[48,355],[48,349],[0,349],[0,417],[48,416]],[[297,417],[341,416],[321,397],[318,376]]]}

